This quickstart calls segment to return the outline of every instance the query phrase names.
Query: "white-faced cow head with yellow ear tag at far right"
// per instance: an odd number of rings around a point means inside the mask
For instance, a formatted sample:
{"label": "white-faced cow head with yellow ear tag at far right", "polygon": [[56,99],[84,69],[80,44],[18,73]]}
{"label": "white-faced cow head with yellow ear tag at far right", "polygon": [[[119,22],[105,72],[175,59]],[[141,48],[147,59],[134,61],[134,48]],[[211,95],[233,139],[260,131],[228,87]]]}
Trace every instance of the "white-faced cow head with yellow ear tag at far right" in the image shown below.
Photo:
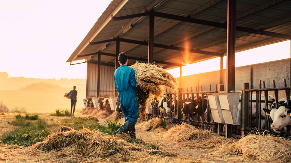
{"label": "white-faced cow head with yellow ear tag at far right", "polygon": [[277,108],[273,103],[271,105],[271,110],[264,108],[266,115],[270,115],[273,123],[271,128],[275,132],[286,131],[286,126],[291,125],[291,107],[288,106],[286,98],[280,99],[279,101],[284,101]]}

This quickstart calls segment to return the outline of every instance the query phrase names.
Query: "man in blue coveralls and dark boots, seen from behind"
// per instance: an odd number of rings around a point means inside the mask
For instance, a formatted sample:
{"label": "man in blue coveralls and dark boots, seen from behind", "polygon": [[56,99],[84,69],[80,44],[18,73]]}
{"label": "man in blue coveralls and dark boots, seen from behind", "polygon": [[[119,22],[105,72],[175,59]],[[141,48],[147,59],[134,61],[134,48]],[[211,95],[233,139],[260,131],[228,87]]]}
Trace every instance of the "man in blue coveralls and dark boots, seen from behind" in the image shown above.
{"label": "man in blue coveralls and dark boots, seen from behind", "polygon": [[131,138],[136,138],[135,124],[139,116],[139,103],[135,89],[140,87],[136,83],[135,70],[127,66],[128,59],[125,53],[118,55],[118,62],[120,67],[115,70],[114,82],[125,122],[115,134],[129,132]]}

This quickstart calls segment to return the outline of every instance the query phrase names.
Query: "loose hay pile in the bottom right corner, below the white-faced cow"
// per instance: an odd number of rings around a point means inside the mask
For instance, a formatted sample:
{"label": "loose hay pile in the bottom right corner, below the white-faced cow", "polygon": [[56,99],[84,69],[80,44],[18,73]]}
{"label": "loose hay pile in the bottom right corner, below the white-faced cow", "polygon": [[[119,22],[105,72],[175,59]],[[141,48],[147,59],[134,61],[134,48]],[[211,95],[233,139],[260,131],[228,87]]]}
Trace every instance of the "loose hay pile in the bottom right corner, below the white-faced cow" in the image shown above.
{"label": "loose hay pile in the bottom right corner, below the white-faced cow", "polygon": [[291,162],[291,141],[271,135],[247,135],[218,152],[259,162]]}

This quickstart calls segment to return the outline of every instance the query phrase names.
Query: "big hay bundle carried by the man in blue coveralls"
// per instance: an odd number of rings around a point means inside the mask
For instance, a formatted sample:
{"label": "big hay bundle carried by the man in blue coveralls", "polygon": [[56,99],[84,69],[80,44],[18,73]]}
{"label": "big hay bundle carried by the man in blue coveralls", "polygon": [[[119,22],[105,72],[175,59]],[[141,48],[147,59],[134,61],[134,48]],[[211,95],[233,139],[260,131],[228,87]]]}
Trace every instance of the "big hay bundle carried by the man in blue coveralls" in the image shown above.
{"label": "big hay bundle carried by the man in blue coveralls", "polygon": [[136,90],[140,115],[145,115],[145,105],[149,97],[160,99],[164,93],[163,85],[176,90],[176,78],[162,67],[139,62],[130,67],[135,70],[136,82],[141,88]]}

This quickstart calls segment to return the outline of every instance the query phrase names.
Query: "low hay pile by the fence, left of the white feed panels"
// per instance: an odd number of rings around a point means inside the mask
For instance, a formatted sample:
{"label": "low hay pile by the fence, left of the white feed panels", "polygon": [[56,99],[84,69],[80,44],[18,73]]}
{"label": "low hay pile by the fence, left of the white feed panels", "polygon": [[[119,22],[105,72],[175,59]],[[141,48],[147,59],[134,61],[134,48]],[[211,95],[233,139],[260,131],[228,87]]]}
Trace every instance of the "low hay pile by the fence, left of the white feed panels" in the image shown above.
{"label": "low hay pile by the fence, left of the white feed panels", "polygon": [[170,128],[164,135],[164,140],[170,139],[173,141],[196,140],[203,141],[212,139],[212,133],[208,130],[197,129],[192,125],[183,123]]}

